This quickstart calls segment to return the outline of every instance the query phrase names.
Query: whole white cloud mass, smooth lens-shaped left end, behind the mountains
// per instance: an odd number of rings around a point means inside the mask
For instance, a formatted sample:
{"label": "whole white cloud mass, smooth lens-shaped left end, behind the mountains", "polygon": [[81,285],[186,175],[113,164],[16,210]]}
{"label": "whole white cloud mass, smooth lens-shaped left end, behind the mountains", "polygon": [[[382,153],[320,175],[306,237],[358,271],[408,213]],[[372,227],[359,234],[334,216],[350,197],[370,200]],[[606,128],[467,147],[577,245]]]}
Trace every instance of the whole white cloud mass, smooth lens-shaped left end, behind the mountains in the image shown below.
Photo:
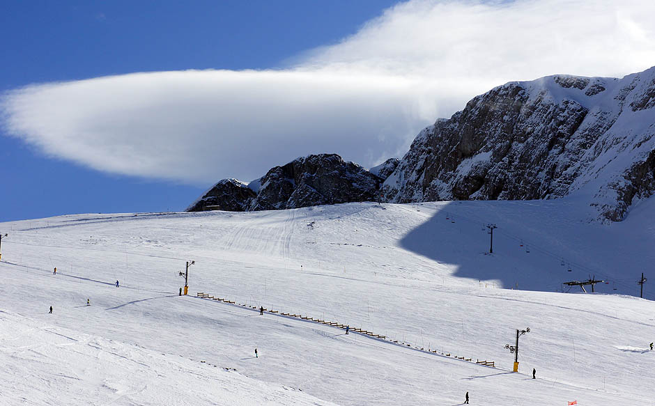
{"label": "whole white cloud mass, smooth lens-shaped left end, behind the mountains", "polygon": [[371,166],[470,97],[655,65],[650,0],[410,1],[286,70],[136,73],[3,97],[9,134],[100,171],[206,185],[309,153]]}

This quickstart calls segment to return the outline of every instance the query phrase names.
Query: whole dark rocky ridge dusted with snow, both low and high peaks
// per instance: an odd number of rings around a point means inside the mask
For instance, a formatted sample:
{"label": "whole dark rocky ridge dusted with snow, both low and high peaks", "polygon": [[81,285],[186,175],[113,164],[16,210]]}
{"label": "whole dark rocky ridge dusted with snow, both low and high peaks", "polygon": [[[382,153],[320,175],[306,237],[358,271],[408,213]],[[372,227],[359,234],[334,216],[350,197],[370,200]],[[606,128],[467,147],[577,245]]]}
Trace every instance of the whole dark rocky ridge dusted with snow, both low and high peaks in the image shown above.
{"label": "whole dark rocky ridge dusted with snow, both low and high peaks", "polygon": [[[597,218],[620,221],[636,200],[655,191],[654,135],[655,68],[622,79],[514,81],[426,127],[400,161],[389,159],[367,172],[338,155],[310,155],[271,169],[254,182],[263,188],[222,180],[189,210],[577,194]],[[331,158],[323,162],[325,157]]]}

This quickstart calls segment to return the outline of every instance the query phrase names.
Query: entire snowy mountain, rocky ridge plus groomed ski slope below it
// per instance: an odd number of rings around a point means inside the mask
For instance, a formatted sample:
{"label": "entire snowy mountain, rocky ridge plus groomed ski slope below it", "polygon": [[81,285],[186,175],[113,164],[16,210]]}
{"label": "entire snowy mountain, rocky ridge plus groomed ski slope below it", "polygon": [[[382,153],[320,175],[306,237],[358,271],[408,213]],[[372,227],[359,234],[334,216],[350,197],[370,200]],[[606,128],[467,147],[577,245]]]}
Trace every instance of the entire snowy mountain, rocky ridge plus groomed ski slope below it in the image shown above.
{"label": "entire snowy mountain, rocky ridge plus groomed ski slope below it", "polygon": [[1,223],[0,404],[652,404],[654,76],[500,86],[401,160],[190,208],[218,211]]}

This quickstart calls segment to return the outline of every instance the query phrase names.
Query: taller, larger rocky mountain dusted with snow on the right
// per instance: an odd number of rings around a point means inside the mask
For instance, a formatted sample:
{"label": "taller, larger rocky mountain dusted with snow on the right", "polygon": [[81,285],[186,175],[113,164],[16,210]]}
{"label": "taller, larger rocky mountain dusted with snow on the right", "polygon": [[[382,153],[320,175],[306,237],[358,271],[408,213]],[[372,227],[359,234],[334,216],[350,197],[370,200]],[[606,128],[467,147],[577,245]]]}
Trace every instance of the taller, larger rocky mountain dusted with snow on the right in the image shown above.
{"label": "taller, larger rocky mountain dusted with snow on the right", "polygon": [[621,220],[655,190],[655,68],[510,82],[426,127],[383,185],[396,203],[589,195]]}

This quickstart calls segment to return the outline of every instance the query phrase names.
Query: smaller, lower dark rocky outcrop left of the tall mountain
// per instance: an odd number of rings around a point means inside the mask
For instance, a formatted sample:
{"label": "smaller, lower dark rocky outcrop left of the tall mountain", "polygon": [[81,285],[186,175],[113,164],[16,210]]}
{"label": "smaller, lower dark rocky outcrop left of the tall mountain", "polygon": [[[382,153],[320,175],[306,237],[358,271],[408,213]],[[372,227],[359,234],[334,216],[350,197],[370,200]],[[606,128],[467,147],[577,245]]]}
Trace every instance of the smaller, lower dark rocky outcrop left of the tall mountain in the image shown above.
{"label": "smaller, lower dark rocky outcrop left of the tall mountain", "polygon": [[339,155],[309,155],[275,166],[249,185],[221,180],[187,210],[280,210],[373,201],[383,180]]}

